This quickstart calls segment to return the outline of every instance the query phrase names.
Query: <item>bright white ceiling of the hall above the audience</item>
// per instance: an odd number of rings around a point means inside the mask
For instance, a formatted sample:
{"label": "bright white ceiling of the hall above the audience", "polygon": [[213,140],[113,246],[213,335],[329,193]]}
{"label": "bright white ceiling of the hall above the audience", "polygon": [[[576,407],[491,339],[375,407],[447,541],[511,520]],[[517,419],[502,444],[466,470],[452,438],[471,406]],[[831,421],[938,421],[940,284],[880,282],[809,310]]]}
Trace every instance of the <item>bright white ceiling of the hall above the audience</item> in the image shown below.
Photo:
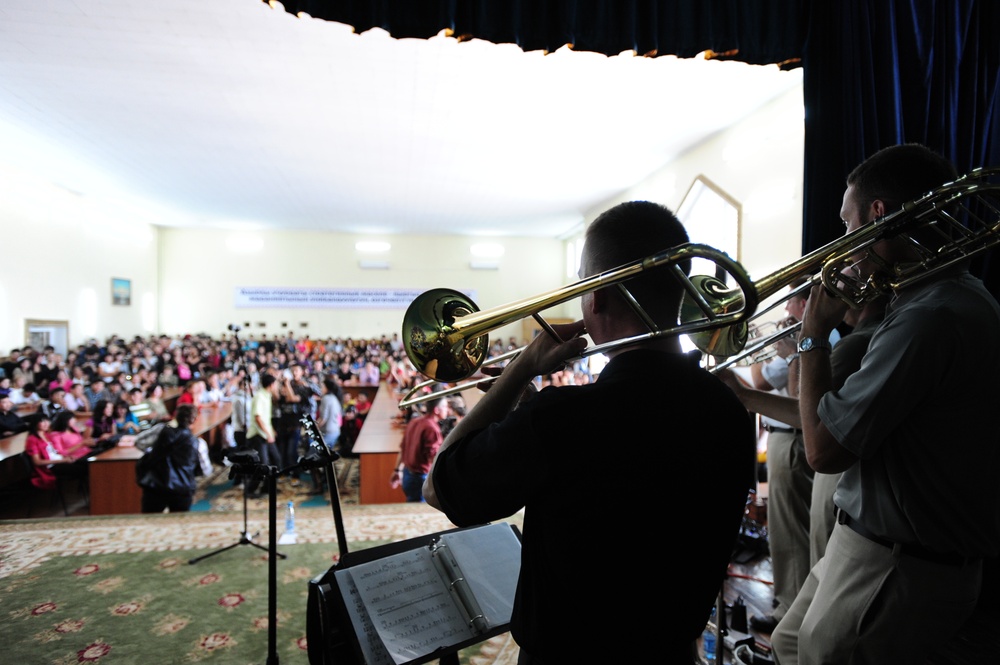
{"label": "bright white ceiling of the hall above the audience", "polygon": [[157,224],[558,236],[800,84],[260,0],[0,0],[0,163]]}

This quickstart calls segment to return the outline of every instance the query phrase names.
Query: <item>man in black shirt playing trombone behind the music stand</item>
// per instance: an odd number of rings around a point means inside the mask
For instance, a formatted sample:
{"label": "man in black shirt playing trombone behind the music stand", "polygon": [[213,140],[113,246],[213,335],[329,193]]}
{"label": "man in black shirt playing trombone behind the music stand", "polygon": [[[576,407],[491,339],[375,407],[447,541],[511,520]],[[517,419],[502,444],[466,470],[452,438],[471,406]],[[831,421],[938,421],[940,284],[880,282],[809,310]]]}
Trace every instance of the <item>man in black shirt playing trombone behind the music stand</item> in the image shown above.
{"label": "man in black shirt playing trombone behind the music stand", "polygon": [[[587,229],[581,276],[687,240],[663,206],[620,204]],[[671,270],[625,286],[657,324],[677,325],[682,287]],[[511,621],[520,663],[605,662],[637,649],[691,663],[754,485],[752,422],[676,335],[609,350],[593,383],[522,400],[535,376],[581,354],[585,332],[595,344],[647,332],[617,288],[586,293],[581,306],[581,321],[554,326],[566,341],[538,335],[455,426],[424,497],[459,526],[524,509]],[[686,477],[685,506],[665,511],[671,470]],[[667,595],[679,615],[645,616]]]}

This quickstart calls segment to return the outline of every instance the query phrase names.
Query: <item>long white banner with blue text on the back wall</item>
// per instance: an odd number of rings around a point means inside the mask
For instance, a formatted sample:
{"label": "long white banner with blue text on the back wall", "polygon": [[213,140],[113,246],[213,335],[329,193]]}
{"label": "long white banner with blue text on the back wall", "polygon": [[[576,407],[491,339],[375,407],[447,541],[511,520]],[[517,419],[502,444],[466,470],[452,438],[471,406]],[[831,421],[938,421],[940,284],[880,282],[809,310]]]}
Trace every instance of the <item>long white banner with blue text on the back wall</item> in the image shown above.
{"label": "long white banner with blue text on the back wall", "polygon": [[236,307],[406,309],[422,289],[329,289],[237,286]]}

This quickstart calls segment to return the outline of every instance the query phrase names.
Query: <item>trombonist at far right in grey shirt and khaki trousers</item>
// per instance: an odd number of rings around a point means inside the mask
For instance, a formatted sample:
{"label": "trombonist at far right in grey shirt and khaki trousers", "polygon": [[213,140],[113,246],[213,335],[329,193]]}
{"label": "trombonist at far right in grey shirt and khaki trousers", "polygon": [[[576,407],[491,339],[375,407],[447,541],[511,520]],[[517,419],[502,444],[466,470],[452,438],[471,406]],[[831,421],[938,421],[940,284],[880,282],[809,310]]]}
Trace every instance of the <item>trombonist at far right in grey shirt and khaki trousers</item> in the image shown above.
{"label": "trombonist at far right in grey shirt and khaki trousers", "polygon": [[[841,217],[851,233],[954,179],[923,146],[886,148],[848,176]],[[950,244],[917,229],[878,240],[878,261],[853,258],[862,277],[891,277],[918,243]],[[845,309],[814,287],[800,331],[806,454],[843,475],[826,553],[772,634],[780,665],[924,662],[972,614],[983,559],[1000,552],[1000,306],[964,263],[896,288],[861,368],[835,390],[817,340]]]}

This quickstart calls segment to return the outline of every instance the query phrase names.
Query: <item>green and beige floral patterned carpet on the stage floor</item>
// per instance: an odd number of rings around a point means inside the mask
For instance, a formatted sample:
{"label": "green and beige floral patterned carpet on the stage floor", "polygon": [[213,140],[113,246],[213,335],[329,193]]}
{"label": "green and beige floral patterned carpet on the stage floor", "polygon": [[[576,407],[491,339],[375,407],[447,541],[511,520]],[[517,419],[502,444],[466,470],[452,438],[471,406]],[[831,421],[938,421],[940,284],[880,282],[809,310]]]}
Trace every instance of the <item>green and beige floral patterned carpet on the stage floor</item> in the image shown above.
{"label": "green and beige floral patterned carpet on the stage floor", "polygon": [[[287,559],[277,563],[277,655],[305,663],[308,580],[336,563],[339,547],[329,503],[306,495],[308,483],[281,485],[281,501],[296,502],[298,536],[278,546]],[[226,478],[199,499],[201,509],[186,514],[0,522],[4,661],[264,662],[267,552],[237,546],[189,565],[238,543],[244,529],[242,492]],[[350,496],[343,503],[351,551],[452,527],[421,504],[358,506]],[[267,502],[247,508],[246,531],[266,546]],[[512,665],[517,647],[505,634],[460,658]]]}

